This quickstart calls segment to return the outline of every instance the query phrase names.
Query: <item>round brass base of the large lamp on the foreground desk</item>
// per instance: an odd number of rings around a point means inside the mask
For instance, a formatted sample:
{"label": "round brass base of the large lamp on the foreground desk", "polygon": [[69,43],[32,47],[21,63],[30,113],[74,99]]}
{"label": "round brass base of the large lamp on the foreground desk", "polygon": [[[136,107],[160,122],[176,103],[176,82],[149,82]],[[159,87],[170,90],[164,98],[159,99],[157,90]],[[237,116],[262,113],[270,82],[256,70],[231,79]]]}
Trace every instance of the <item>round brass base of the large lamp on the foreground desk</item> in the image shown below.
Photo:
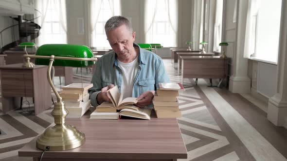
{"label": "round brass base of the large lamp on the foreground desk", "polygon": [[45,130],[36,141],[36,147],[49,151],[62,151],[79,147],[85,143],[85,134],[71,125],[54,125]]}

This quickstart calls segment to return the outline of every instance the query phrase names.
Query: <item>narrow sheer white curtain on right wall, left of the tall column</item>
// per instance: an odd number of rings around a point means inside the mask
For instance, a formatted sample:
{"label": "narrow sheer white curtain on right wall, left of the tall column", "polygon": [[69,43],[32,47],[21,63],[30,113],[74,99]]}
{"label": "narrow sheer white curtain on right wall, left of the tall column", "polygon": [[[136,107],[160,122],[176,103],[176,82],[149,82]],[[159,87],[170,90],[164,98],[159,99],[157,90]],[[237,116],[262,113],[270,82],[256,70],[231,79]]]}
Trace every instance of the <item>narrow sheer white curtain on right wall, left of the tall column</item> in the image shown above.
{"label": "narrow sheer white curtain on right wall, left of the tall column", "polygon": [[213,50],[220,52],[221,47],[221,32],[222,32],[222,13],[223,13],[223,0],[216,0],[216,10],[215,10],[215,25],[214,25],[214,44]]}

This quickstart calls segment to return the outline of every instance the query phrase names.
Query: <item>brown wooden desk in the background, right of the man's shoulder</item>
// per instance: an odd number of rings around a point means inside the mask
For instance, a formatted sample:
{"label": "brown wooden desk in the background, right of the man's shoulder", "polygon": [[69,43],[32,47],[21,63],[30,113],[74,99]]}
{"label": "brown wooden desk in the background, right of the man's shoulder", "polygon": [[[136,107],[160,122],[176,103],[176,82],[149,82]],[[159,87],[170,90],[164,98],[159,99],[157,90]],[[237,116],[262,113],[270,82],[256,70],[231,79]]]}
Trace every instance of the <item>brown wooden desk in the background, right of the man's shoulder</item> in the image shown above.
{"label": "brown wooden desk in the background, right of the man's shoulder", "polygon": [[226,79],[229,60],[220,56],[181,56],[181,78]]}

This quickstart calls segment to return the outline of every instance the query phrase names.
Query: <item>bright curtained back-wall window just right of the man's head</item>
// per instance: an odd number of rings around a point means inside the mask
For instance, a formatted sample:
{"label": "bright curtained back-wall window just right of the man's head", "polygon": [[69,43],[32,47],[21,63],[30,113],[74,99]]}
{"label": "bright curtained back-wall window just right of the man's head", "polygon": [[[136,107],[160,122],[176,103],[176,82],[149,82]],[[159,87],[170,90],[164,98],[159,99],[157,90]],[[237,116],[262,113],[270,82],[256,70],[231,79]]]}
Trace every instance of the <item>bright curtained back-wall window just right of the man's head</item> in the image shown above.
{"label": "bright curtained back-wall window just right of the man's head", "polygon": [[144,12],[145,43],[177,47],[177,1],[146,0]]}

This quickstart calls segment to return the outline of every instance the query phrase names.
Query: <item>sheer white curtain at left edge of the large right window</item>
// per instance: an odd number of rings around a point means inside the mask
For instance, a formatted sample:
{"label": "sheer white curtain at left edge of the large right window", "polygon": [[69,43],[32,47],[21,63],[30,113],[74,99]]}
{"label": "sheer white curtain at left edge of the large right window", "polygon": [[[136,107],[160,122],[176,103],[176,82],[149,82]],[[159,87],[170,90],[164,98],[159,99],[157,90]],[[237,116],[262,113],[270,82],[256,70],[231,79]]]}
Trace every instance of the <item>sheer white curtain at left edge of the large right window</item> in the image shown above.
{"label": "sheer white curtain at left edge of the large right window", "polygon": [[251,54],[255,52],[255,31],[257,14],[260,7],[261,0],[249,0],[246,18],[246,31],[244,42],[244,58],[250,58]]}

